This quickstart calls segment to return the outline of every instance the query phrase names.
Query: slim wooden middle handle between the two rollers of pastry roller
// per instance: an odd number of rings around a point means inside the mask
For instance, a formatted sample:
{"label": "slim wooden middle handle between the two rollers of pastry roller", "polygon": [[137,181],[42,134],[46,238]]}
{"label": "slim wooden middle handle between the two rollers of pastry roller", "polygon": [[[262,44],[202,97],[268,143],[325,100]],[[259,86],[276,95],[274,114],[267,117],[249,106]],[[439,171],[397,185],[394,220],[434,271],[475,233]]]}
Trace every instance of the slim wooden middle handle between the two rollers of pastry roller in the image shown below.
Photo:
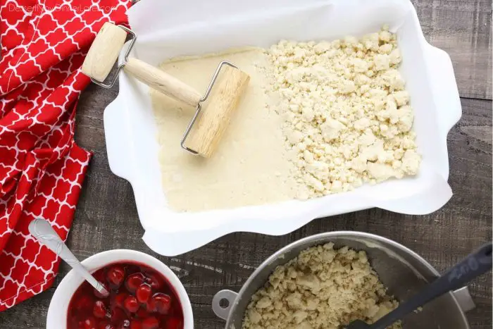
{"label": "slim wooden middle handle between the two rollers of pastry roller", "polygon": [[140,61],[137,58],[129,58],[123,69],[149,87],[173,99],[191,106],[199,104],[201,99],[199,92],[185,84],[185,82],[144,61]]}

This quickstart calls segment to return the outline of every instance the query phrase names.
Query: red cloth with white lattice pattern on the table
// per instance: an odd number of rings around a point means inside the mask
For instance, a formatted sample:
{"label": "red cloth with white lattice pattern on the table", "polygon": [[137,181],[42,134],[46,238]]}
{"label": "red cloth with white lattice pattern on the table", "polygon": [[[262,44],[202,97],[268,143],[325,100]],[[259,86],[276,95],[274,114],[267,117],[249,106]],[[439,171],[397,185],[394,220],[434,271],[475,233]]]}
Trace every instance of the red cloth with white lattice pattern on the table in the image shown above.
{"label": "red cloth with white lattice pattern on the table", "polygon": [[27,225],[66,239],[91,153],[75,144],[80,73],[104,22],[129,0],[0,0],[0,311],[54,283],[58,257]]}

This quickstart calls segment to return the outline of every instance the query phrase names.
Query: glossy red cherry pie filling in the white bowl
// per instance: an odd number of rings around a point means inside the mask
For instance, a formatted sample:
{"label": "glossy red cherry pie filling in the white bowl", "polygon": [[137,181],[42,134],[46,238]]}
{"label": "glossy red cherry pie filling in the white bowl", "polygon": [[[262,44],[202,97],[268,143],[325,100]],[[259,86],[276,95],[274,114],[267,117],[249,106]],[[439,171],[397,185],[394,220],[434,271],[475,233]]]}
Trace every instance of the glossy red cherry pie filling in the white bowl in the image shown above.
{"label": "glossy red cherry pie filling in the white bowl", "polygon": [[112,263],[92,273],[104,298],[87,281],[68,304],[67,329],[182,329],[180,300],[166,278],[139,263]]}

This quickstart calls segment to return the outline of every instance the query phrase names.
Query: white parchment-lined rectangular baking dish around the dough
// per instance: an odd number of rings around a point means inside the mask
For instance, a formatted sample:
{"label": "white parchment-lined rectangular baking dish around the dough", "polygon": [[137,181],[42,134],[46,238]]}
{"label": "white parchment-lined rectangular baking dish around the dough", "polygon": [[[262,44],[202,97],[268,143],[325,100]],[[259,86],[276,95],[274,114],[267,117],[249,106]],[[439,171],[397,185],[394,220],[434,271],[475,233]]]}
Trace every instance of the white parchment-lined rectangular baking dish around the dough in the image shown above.
{"label": "white parchment-lined rectangular baking dish around the dough", "polygon": [[410,1],[143,0],[130,9],[129,18],[139,36],[132,56],[154,65],[180,55],[267,47],[280,39],[361,36],[389,24],[397,32],[401,74],[411,94],[413,129],[423,156],[414,178],[308,201],[175,213],[161,188],[149,89],[122,74],[120,94],[104,112],[108,161],[113,173],[131,182],[144,241],[155,252],[181,254],[237,231],[282,235],[313,218],[371,207],[425,214],[450,199],[447,133],[461,117],[461,103],[450,58],[425,41]]}

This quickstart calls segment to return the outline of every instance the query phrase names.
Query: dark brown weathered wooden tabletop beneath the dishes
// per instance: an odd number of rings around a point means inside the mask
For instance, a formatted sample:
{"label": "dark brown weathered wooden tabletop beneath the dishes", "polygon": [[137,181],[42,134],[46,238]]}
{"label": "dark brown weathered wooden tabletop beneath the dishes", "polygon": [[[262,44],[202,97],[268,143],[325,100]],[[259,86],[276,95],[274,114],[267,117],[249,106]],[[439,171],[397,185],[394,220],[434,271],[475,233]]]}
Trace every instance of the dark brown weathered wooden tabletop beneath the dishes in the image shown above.
{"label": "dark brown weathered wooden tabletop beneath the dishes", "polygon": [[[439,271],[492,239],[492,3],[490,0],[414,0],[428,41],[447,51],[454,63],[463,116],[449,133],[449,182],[454,197],[428,216],[404,216],[370,209],[312,221],[281,237],[234,233],[194,252],[158,256],[179,273],[194,308],[196,328],[223,328],[211,311],[213,294],[239,290],[266,257],[289,242],[332,230],[361,230],[410,247]],[[118,87],[91,86],[77,110],[76,140],[94,151],[69,247],[80,258],[108,249],[146,247],[130,184],[108,168],[103,131],[104,108]],[[68,272],[63,265],[49,291],[0,314],[0,328],[45,328],[56,285]],[[473,329],[492,328],[492,275],[470,285],[476,309],[468,313]],[[447,328],[454,329],[454,328]]]}

